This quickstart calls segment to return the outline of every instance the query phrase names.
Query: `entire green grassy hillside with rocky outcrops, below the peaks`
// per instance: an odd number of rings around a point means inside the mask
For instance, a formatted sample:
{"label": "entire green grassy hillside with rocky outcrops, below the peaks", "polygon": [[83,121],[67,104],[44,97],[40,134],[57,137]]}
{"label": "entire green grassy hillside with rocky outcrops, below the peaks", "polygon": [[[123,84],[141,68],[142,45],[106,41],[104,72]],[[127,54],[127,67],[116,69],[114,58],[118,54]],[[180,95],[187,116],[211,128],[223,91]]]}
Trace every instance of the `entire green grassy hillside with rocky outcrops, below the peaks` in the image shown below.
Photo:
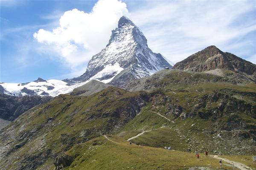
{"label": "entire green grassy hillside with rocky outcrops, below the peaks", "polygon": [[[160,71],[130,85],[145,91],[60,95],[27,111],[0,131],[0,169],[215,169],[217,159],[195,161],[184,151],[256,154],[255,84]],[[145,130],[131,140],[143,147],[126,142]]]}

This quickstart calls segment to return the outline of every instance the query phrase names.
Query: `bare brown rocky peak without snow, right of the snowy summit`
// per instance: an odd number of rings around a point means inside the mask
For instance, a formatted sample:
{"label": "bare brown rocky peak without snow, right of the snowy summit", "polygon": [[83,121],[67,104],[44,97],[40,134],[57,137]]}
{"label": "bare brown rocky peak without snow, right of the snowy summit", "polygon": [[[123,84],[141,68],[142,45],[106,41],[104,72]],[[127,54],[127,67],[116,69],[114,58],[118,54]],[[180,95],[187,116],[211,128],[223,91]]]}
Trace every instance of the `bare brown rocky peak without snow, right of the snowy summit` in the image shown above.
{"label": "bare brown rocky peak without snow, right of the snowy summit", "polygon": [[[177,62],[173,69],[184,71],[209,72],[229,77],[250,79],[256,82],[256,65],[234,54],[223,52],[214,45],[205,48],[183,61]],[[229,71],[227,71],[229,70]],[[238,75],[240,74],[240,75]]]}

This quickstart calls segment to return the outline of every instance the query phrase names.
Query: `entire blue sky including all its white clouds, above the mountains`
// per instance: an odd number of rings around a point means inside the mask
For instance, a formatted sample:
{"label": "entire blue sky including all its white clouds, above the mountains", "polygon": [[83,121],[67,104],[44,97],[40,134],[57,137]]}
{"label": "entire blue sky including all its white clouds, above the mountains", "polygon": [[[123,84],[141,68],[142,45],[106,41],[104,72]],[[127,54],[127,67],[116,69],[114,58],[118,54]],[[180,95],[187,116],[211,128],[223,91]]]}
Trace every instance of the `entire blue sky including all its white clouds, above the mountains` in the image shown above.
{"label": "entire blue sky including all its white clouds, above the mountains", "polygon": [[255,1],[4,1],[0,82],[81,75],[122,15],[172,62],[216,45],[256,63]]}

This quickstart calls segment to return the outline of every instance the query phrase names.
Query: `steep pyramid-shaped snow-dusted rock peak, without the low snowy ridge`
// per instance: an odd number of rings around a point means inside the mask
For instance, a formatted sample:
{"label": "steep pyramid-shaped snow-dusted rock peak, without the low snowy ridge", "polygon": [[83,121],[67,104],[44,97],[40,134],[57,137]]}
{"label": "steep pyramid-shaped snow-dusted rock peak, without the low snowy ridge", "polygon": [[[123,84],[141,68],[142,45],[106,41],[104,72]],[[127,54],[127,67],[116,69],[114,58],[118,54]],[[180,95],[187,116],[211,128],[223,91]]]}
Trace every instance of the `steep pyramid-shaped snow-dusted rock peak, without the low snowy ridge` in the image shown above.
{"label": "steep pyramid-shaped snow-dusted rock peak, without the low snowy ridge", "polygon": [[142,31],[127,17],[118,22],[112,31],[106,48],[92,57],[86,72],[80,77],[65,79],[66,82],[84,82],[88,79],[124,86],[125,83],[146,77],[172,66],[161,54],[148,48]]}

